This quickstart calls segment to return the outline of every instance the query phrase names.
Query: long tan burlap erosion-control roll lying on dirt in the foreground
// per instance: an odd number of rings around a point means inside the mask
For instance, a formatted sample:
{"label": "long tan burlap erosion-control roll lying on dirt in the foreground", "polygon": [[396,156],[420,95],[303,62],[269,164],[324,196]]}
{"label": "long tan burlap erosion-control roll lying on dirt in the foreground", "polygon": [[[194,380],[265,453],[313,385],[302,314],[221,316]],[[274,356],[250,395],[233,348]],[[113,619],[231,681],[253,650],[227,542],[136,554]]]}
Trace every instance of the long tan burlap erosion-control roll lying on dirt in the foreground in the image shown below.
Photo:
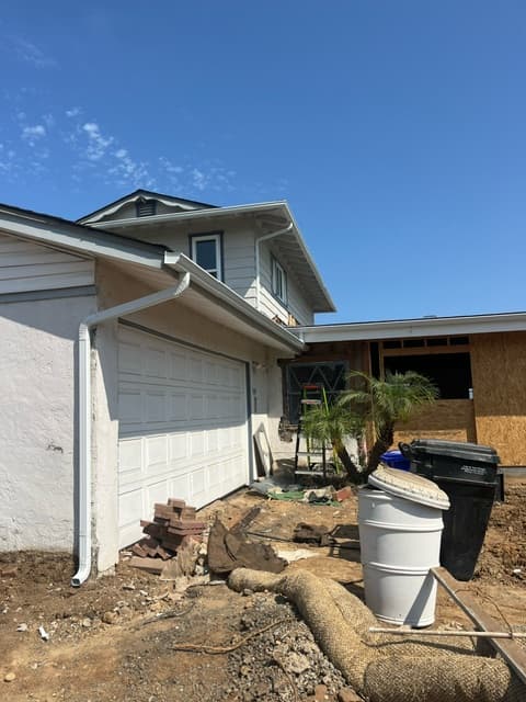
{"label": "long tan burlap erosion-control roll lying on dirt in the foreground", "polygon": [[414,639],[370,634],[378,622],[356,597],[308,571],[272,575],[239,568],[229,586],[271,590],[293,601],[318,644],[369,702],[524,702],[524,686],[501,660],[474,654],[469,638]]}

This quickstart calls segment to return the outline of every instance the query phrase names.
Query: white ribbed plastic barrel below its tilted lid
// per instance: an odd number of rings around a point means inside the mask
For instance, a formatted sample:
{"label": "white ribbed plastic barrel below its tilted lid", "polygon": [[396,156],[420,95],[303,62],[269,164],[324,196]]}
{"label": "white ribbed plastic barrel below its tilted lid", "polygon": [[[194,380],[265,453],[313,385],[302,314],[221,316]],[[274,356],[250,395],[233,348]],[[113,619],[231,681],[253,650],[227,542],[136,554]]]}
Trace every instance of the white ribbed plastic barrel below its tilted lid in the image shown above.
{"label": "white ribbed plastic barrel below its tilted lid", "polygon": [[391,624],[435,621],[442,510],[368,486],[358,492],[358,529],[365,601]]}

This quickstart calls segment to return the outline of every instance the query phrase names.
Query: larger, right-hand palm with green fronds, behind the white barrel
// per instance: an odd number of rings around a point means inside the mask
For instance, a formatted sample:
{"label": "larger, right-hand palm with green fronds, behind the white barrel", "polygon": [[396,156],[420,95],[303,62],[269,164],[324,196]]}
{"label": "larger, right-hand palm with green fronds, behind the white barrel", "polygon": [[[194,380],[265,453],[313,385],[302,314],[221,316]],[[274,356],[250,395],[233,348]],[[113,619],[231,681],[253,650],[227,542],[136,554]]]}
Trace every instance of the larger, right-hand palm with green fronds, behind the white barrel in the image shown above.
{"label": "larger, right-hand palm with green fronds, behind the white barrel", "polygon": [[418,409],[433,403],[438,389],[430,378],[414,371],[405,373],[386,372],[379,380],[354,371],[350,380],[356,380],[362,387],[345,390],[339,399],[339,406],[352,416],[362,417],[363,422],[370,421],[375,441],[368,452],[365,474],[373,472],[380,456],[395,439],[397,421],[407,421]]}

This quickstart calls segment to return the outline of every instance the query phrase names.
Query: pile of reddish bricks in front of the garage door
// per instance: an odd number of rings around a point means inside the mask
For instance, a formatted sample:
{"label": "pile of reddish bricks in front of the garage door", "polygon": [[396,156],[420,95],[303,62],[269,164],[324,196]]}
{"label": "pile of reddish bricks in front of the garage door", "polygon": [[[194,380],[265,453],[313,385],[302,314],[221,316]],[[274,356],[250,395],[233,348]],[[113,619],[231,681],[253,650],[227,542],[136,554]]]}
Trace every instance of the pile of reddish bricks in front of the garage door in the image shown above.
{"label": "pile of reddish bricks in front of the garage door", "polygon": [[203,541],[206,529],[205,522],[196,521],[195,507],[187,507],[184,500],[173,498],[167,505],[157,503],[153,521],[141,520],[140,525],[145,537],[132,546],[132,552],[138,556],[132,565],[152,573],[160,571],[162,561],[172,558],[190,542]]}

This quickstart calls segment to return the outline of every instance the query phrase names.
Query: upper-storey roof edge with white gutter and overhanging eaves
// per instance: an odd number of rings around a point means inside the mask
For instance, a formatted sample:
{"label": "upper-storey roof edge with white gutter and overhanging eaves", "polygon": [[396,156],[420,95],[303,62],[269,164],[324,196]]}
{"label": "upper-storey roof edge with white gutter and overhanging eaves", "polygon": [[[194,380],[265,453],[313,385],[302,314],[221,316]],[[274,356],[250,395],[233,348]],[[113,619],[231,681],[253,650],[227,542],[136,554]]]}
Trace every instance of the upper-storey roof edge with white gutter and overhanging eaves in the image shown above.
{"label": "upper-storey roof edge with white gutter and overhanging eaves", "polygon": [[[137,193],[148,193],[150,196],[157,196],[157,193],[150,191],[136,191]],[[134,193],[132,193],[134,195]],[[132,197],[132,195],[128,196]],[[174,204],[179,202],[179,199],[173,199]],[[122,201],[117,201],[123,204]],[[114,203],[115,204],[115,203]],[[118,205],[121,206],[121,205]],[[114,206],[113,212],[118,210],[118,206]],[[110,206],[108,206],[110,207]],[[98,211],[102,213],[103,211]],[[104,208],[104,214],[108,214],[111,211]],[[248,205],[232,205],[227,207],[215,207],[213,205],[203,205],[198,207],[188,207],[186,212],[173,212],[167,214],[151,215],[145,217],[134,217],[126,219],[105,219],[99,220],[99,217],[83,217],[79,219],[80,223],[84,223],[90,219],[90,224],[96,228],[103,228],[106,231],[117,229],[124,231],[127,228],[140,229],[141,227],[151,227],[152,225],[160,225],[163,223],[178,223],[196,219],[217,219],[224,217],[241,217],[251,216],[255,217],[259,222],[262,237],[285,228],[288,224],[291,224],[291,229],[286,234],[272,239],[272,247],[279,252],[279,258],[283,259],[283,263],[293,273],[298,281],[304,293],[308,295],[309,302],[312,307],[312,312],[335,312],[336,308],[331,298],[329,291],[327,290],[321,274],[312,259],[310,251],[301,236],[301,233],[296,224],[293,213],[286,201],[262,202]]]}

